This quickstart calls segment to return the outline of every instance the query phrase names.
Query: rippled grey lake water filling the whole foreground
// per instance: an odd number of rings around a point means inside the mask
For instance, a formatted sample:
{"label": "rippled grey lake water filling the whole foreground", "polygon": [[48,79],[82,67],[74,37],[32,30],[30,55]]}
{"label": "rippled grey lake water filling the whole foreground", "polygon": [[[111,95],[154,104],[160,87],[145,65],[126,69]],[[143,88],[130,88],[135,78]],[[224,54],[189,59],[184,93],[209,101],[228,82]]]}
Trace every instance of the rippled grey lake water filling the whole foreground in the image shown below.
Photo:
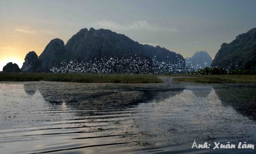
{"label": "rippled grey lake water filling the whole foreground", "polygon": [[[0,153],[255,153],[256,85],[0,82]],[[210,149],[191,149],[208,142]],[[237,146],[236,146],[237,147]],[[255,147],[256,148],[256,147]]]}

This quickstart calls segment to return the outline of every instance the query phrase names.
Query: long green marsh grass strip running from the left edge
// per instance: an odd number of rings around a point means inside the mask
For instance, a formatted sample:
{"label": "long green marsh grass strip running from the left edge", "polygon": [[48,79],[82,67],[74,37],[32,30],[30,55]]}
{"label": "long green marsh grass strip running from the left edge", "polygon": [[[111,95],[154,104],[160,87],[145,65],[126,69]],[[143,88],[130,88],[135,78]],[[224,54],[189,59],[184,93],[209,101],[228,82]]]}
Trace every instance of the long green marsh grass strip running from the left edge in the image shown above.
{"label": "long green marsh grass strip running from the left edge", "polygon": [[87,83],[159,83],[151,74],[53,74],[53,73],[0,73],[0,81],[58,81]]}

